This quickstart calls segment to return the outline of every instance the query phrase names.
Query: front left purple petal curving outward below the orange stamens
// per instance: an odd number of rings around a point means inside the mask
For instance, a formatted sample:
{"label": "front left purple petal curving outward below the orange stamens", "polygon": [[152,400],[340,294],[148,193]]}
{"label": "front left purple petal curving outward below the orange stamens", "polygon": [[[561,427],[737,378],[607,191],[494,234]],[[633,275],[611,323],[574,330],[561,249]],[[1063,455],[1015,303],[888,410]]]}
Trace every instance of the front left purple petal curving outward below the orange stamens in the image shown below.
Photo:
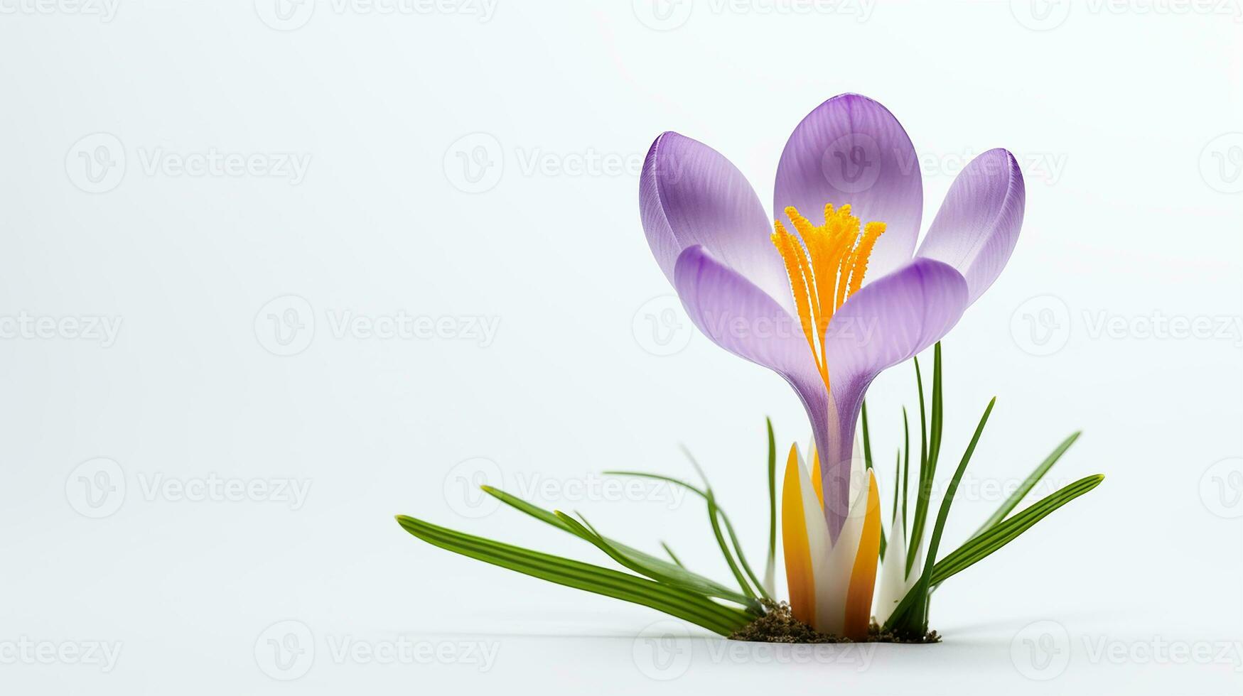
{"label": "front left purple petal curving outward below the orange stamens", "polygon": [[837,414],[798,319],[702,246],[677,257],[674,286],[691,321],[713,343],[786,378],[807,409],[817,447],[827,447]]}

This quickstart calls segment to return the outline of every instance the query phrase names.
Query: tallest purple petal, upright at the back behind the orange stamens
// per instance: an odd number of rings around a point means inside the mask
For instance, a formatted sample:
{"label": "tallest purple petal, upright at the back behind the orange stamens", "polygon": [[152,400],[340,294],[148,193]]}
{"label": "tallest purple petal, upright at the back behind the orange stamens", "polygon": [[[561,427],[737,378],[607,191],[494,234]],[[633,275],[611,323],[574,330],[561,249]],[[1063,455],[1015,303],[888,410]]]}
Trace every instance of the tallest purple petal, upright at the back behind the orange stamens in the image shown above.
{"label": "tallest purple petal, upright at the back behind the orange stamens", "polygon": [[824,204],[849,203],[863,222],[883,221],[869,276],[911,259],[924,215],[924,185],[911,139],[894,114],[860,94],[839,94],[807,114],[777,164],[773,214],[793,205],[818,222]]}

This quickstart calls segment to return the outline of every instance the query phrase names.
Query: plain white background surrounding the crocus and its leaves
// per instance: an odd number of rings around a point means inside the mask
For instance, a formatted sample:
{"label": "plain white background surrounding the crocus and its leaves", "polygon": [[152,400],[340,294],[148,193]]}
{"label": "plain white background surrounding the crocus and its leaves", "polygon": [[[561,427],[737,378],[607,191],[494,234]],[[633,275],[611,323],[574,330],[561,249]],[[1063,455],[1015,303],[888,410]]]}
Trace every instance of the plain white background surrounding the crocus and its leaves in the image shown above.
{"label": "plain white background surrounding the crocus and its leaves", "polygon": [[[1238,692],[1237,0],[308,2],[0,0],[6,692]],[[846,91],[910,133],[925,225],[976,153],[1027,175],[1013,259],[945,342],[943,475],[998,396],[946,543],[1076,429],[1052,483],[1106,475],[946,583],[943,644],[722,654],[394,523],[607,562],[465,497],[491,477],[726,580],[700,503],[592,487],[692,476],[681,442],[762,564],[763,416],[782,446],[808,428],[665,312],[638,169],[675,129],[768,201],[789,130]],[[433,328],[339,326],[399,316]],[[912,387],[870,393],[885,462]],[[178,487],[210,480],[254,487]],[[431,657],[341,652],[400,640]],[[113,664],[72,656],[101,643]]]}

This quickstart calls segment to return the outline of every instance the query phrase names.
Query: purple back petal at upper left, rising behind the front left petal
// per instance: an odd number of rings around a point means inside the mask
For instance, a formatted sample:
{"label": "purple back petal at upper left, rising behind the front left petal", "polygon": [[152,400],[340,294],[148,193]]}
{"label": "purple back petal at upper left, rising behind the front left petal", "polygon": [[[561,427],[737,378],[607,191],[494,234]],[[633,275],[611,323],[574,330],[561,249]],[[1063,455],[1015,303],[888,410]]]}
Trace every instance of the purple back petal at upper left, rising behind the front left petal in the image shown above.
{"label": "purple back petal at upper left, rising behind the front left petal", "polygon": [[661,134],[643,163],[639,213],[651,254],[670,282],[682,250],[701,245],[793,308],[786,266],[771,240],[772,220],[721,153],[674,132]]}

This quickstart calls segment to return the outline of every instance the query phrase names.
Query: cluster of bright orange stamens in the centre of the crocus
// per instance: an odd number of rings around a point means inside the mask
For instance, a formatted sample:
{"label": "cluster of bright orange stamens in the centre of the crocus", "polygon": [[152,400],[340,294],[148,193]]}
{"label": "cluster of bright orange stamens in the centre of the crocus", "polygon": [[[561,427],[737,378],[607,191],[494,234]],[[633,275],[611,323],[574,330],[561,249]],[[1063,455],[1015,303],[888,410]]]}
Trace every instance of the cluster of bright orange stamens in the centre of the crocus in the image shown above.
{"label": "cluster of bright orange stamens in the centre of the crocus", "polygon": [[868,222],[859,234],[859,218],[850,214],[849,203],[835,210],[832,203],[824,204],[820,226],[813,225],[793,206],[784,213],[797,234],[786,231],[781,220],[774,220],[772,241],[786,262],[799,323],[828,389],[829,357],[824,333],[833,313],[863,287],[868,260],[885,232],[885,224]]}

